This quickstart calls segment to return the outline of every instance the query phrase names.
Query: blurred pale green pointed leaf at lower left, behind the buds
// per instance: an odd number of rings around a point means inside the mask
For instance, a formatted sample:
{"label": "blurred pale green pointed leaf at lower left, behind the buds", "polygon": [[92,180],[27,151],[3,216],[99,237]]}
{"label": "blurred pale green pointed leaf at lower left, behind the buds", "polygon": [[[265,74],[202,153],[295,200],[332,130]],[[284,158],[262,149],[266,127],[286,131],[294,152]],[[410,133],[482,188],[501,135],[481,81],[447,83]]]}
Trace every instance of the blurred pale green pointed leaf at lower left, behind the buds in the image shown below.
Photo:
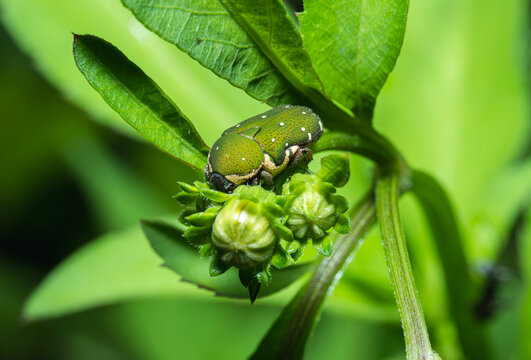
{"label": "blurred pale green pointed leaf at lower left, behind the buds", "polygon": [[35,321],[124,300],[193,293],[160,267],[135,226],[95,239],[59,264],[30,295],[22,317]]}

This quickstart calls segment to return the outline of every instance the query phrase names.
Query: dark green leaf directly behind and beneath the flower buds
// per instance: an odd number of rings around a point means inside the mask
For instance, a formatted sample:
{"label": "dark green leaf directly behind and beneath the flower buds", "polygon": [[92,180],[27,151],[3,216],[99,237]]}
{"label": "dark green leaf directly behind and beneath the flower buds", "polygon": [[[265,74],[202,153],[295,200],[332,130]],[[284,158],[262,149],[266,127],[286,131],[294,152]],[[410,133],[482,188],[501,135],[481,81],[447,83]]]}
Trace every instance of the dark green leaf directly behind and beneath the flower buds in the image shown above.
{"label": "dark green leaf directly behind and beneath the flower buds", "polygon": [[[223,276],[210,276],[209,259],[200,258],[197,249],[186,243],[182,229],[161,221],[144,221],[143,228],[151,246],[163,258],[164,264],[181,275],[183,280],[211,290],[219,296],[242,299],[249,297],[247,289],[240,283],[235,268],[229,269]],[[258,297],[284,289],[311,271],[314,266],[312,263],[306,263],[283,270],[273,270],[273,280],[270,285],[261,287]]]}

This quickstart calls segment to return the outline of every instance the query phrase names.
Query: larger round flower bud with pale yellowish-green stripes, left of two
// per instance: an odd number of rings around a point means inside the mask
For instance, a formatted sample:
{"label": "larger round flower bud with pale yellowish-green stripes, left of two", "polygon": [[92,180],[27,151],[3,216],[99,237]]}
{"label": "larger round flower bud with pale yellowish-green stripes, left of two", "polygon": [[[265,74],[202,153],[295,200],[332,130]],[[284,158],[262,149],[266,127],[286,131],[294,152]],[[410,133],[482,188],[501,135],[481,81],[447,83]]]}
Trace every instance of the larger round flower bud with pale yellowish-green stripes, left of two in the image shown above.
{"label": "larger round flower bud with pale yellowish-green stripes, left of two", "polygon": [[246,269],[271,258],[278,236],[267,213],[250,198],[227,201],[212,231],[212,244],[223,262]]}

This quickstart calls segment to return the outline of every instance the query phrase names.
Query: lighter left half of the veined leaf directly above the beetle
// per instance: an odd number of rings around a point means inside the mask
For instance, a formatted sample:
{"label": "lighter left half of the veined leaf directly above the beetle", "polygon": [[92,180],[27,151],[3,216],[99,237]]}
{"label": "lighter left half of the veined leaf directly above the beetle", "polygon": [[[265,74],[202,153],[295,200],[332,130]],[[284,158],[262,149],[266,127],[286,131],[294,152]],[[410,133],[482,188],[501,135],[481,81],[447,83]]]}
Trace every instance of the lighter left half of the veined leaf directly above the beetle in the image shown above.
{"label": "lighter left half of the veined leaf directly above the beetle", "polygon": [[301,95],[217,0],[122,0],[137,19],[216,75],[270,105]]}

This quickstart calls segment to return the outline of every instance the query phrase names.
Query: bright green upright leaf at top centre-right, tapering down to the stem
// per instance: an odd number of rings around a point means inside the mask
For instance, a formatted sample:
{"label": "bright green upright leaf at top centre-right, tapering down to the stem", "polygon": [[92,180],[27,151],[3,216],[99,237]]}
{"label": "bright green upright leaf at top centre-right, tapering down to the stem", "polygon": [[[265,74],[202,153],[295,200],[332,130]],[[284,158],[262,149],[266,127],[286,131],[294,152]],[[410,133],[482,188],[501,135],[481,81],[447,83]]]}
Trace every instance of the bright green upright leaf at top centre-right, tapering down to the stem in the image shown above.
{"label": "bright green upright leaf at top centre-right, tapering down to the stem", "polygon": [[372,117],[404,37],[408,0],[306,0],[304,47],[328,94],[357,116]]}

